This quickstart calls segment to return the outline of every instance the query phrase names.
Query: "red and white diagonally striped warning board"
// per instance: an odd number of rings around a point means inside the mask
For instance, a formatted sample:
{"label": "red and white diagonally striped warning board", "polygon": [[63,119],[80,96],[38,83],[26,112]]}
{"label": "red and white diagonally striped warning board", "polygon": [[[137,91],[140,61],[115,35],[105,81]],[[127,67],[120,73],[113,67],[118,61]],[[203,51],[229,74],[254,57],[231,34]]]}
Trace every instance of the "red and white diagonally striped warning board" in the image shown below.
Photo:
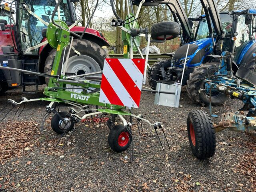
{"label": "red and white diagonally striped warning board", "polygon": [[105,59],[100,102],[138,108],[145,59]]}

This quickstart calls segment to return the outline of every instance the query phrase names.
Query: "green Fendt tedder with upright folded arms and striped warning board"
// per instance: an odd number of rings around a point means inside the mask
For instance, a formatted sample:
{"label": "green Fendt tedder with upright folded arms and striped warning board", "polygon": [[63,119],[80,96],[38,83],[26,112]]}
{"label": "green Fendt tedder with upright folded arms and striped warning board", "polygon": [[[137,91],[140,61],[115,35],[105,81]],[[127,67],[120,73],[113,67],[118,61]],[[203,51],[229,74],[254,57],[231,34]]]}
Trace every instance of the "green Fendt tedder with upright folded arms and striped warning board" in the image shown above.
{"label": "green Fendt tedder with upright folded arms and striped warning board", "polygon": [[[54,20],[56,13],[59,16],[58,7],[61,2],[62,0],[58,1],[54,11],[52,12],[52,22],[50,24],[44,22],[44,24],[47,24],[47,29],[42,30],[42,36],[47,38],[47,43],[52,48],[56,49],[56,56],[51,74],[0,66],[0,69],[2,70],[16,70],[49,78],[48,86],[44,88],[44,95],[47,97],[30,100],[22,98],[22,101],[20,102],[9,99],[8,103],[12,105],[12,108],[14,108],[17,105],[25,105],[25,103],[32,101],[41,100],[50,102],[50,104],[46,106],[46,114],[43,118],[40,130],[41,132],[43,131],[44,121],[46,117],[49,116],[49,114],[52,112],[54,113],[54,116],[51,120],[51,127],[56,133],[62,134],[62,136],[66,132],[73,130],[74,125],[80,120],[88,120],[88,122],[90,122],[89,118],[92,118],[93,116],[100,116],[101,122],[104,116],[110,114],[110,119],[107,121],[107,125],[110,128],[108,144],[110,148],[115,152],[122,152],[130,146],[132,142],[132,119],[136,118],[138,120],[138,125],[139,122],[145,121],[150,126],[154,127],[154,130],[162,146],[162,142],[157,132],[157,129],[159,128],[164,134],[164,130],[160,122],[150,123],[148,120],[143,118],[142,115],[136,116],[132,114],[131,111],[131,108],[139,107],[141,91],[151,91],[150,88],[142,89],[142,84],[146,84],[148,52],[146,54],[146,59],[144,59],[139,49],[140,36],[146,37],[148,40],[148,46],[151,36],[148,34],[148,29],[139,28],[137,22],[140,8],[145,0],[140,2],[138,11],[135,15],[132,8],[132,2],[130,0],[126,0],[128,16],[125,21],[119,18],[119,16],[116,14],[113,0],[110,1],[114,10],[114,14],[117,16],[117,20],[113,20],[111,24],[112,26],[121,27],[123,31],[125,58],[107,58],[104,62],[103,71],[86,74],[74,74],[67,71],[66,66],[69,62],[68,58],[70,50],[74,50],[74,47],[72,47],[73,37],[70,34],[74,36],[78,35],[73,34],[74,32],[70,30],[74,25],[68,26],[64,21],[60,19]],[[132,13],[129,12],[129,3]],[[22,6],[22,4],[20,6]],[[29,5],[26,7],[29,7]],[[34,15],[31,10],[29,13]],[[41,20],[39,19],[39,21]],[[82,38],[82,36],[79,37]],[[168,36],[168,34],[164,34],[164,40],[166,40],[166,36]],[[164,42],[164,40],[161,40],[160,42]],[[30,47],[29,50],[37,48],[38,46],[42,46],[42,44]],[[140,52],[142,59],[133,59],[132,53],[136,50]],[[24,50],[24,52],[26,52],[26,50]],[[79,50],[75,50],[75,52],[78,55],[80,54]],[[63,59],[61,62],[62,57],[64,58],[64,56],[66,57],[66,60],[64,61]],[[57,75],[58,70],[61,70],[60,76]],[[169,106],[171,103],[171,106],[178,107],[180,97],[180,84],[170,84],[169,86],[167,85],[164,87],[165,90],[160,89],[160,86],[161,85],[159,84],[158,91],[154,91],[157,92],[155,103],[161,105],[168,103]],[[171,89],[169,88],[170,86],[172,87]],[[172,96],[173,101],[170,102],[170,98],[168,98],[166,95]],[[72,106],[72,108],[70,108],[69,112],[59,112],[57,109],[59,103],[69,104]],[[90,108],[91,105],[96,106],[96,109]],[[10,110],[12,110],[12,108]],[[128,110],[126,110],[126,108],[128,108]],[[125,118],[123,117],[125,115],[130,116],[130,122],[126,122]],[[122,121],[122,125],[115,124],[117,117]],[[165,134],[164,137],[168,144]],[[168,147],[170,148],[169,144]],[[163,146],[162,149],[164,150]]]}

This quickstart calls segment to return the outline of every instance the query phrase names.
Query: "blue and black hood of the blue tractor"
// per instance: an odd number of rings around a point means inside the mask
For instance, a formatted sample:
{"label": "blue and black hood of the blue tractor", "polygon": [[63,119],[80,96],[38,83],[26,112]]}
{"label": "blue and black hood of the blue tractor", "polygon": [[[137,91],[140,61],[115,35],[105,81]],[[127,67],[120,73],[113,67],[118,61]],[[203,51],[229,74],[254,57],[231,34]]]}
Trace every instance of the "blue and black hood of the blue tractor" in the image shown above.
{"label": "blue and black hood of the blue tractor", "polygon": [[190,46],[188,50],[188,58],[186,63],[187,67],[199,66],[203,62],[205,55],[211,54],[213,52],[211,38],[203,38],[200,40],[190,42],[188,44],[180,46],[180,48],[178,48],[178,50],[175,52],[175,66],[183,67],[188,45]]}

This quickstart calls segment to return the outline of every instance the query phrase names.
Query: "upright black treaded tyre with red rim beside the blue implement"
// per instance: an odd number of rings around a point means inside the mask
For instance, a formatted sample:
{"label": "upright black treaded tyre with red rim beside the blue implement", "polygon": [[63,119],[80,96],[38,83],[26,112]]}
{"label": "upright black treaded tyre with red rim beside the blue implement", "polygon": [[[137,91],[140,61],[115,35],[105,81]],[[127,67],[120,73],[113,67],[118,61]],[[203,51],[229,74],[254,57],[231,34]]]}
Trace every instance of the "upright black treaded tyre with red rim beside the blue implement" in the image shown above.
{"label": "upright black treaded tyre with red rim beside the blue implement", "polygon": [[[202,110],[194,110],[188,114],[187,129],[193,154],[199,159],[207,159],[214,156],[216,135],[211,117]],[[192,141],[193,130],[194,141]]]}

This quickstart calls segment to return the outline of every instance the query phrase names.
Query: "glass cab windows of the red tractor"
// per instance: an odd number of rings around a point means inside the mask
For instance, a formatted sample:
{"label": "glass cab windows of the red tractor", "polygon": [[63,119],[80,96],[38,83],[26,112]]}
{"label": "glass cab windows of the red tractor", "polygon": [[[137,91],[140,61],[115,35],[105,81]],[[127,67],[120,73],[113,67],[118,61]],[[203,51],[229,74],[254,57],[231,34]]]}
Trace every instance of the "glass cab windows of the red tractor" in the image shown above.
{"label": "glass cab windows of the red tractor", "polygon": [[[24,3],[30,8],[32,12],[42,18],[44,21],[50,23],[52,12],[56,6],[55,0],[24,0]],[[72,23],[72,16],[70,14],[70,4],[67,0],[63,0],[60,4],[60,19],[67,24]],[[20,9],[18,15],[19,33],[21,49],[28,49],[29,47],[39,44],[42,37],[42,29],[47,28],[40,20],[32,16],[25,9]],[[54,16],[54,20],[58,19],[58,12]],[[38,54],[38,49],[32,50],[31,54]]]}

